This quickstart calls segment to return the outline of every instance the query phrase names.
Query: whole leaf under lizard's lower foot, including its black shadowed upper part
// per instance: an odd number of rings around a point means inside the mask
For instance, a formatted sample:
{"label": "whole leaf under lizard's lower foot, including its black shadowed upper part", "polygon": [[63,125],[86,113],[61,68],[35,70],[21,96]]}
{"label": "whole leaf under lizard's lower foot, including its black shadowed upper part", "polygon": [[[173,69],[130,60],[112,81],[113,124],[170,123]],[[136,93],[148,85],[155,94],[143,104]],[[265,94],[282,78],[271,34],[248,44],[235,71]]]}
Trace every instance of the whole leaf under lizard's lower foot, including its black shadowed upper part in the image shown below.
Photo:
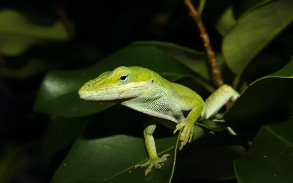
{"label": "whole leaf under lizard's lower foot, including its black shadowed upper part", "polygon": [[147,177],[144,176],[146,167],[134,169],[135,164],[147,160],[142,120],[141,113],[119,105],[102,112],[74,142],[51,183],[129,183],[134,180],[169,183],[175,165],[176,136],[165,127],[158,126],[156,131],[167,130],[171,137],[155,132],[157,152],[159,156],[170,153],[172,157],[164,162],[161,170],[153,168]]}

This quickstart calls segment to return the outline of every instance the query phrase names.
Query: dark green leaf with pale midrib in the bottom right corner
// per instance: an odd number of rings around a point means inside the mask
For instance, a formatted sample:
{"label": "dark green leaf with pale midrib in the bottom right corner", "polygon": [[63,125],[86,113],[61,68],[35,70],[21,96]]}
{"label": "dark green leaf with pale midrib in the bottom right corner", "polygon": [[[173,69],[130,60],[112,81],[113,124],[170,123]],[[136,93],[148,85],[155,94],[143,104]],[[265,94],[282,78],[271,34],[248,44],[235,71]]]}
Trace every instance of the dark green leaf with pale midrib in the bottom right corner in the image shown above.
{"label": "dark green leaf with pale midrib in the bottom right corner", "polygon": [[238,183],[291,183],[293,119],[261,127],[247,154],[234,161]]}

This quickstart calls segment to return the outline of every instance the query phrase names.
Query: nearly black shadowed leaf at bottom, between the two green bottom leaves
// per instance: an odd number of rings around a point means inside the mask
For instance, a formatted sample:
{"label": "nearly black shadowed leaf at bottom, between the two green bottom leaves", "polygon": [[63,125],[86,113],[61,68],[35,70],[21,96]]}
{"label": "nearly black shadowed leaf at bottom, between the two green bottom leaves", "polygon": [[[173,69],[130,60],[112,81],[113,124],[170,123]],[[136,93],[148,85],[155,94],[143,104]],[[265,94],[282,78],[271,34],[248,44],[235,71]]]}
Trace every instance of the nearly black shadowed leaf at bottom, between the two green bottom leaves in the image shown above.
{"label": "nearly black shadowed leaf at bottom, between the two green bottom leaves", "polygon": [[178,153],[177,177],[224,181],[235,179],[233,161],[243,154],[240,146],[211,147]]}

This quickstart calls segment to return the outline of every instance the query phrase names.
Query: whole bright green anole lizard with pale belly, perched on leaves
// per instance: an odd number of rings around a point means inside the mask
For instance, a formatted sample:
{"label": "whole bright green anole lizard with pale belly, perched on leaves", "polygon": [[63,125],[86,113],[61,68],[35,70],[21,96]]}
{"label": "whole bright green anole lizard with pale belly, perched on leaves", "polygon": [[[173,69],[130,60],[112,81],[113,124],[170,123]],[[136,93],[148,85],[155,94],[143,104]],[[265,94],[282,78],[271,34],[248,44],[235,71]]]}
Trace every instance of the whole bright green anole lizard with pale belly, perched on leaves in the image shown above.
{"label": "whole bright green anole lizard with pale belly, perched on leaves", "polygon": [[[81,99],[99,102],[116,102],[149,116],[159,118],[158,122],[173,128],[174,134],[182,130],[179,150],[191,142],[195,122],[215,115],[229,99],[233,101],[239,93],[232,87],[223,85],[205,101],[199,94],[182,85],[171,83],[154,71],[143,67],[117,67],[90,80],[78,91]],[[150,123],[143,131],[149,160],[137,167],[148,168],[145,176],[154,166],[160,169],[170,157],[158,157],[153,133],[157,123]]]}

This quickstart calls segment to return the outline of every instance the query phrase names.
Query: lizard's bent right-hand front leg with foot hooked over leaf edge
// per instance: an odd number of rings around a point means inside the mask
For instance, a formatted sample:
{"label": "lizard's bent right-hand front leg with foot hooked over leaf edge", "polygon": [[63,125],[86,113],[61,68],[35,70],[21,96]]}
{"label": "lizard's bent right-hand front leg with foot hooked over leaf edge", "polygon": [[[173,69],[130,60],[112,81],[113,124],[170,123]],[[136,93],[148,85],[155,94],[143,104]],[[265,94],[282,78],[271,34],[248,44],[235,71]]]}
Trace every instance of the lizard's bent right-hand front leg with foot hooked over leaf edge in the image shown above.
{"label": "lizard's bent right-hand front leg with foot hooked over leaf edge", "polygon": [[176,134],[176,132],[178,130],[180,130],[181,128],[183,128],[183,131],[179,137],[180,140],[180,147],[179,150],[181,150],[183,148],[184,145],[186,145],[186,143],[190,143],[193,137],[193,133],[194,133],[194,125],[195,122],[198,120],[198,118],[200,117],[204,104],[202,101],[197,100],[197,99],[192,99],[188,96],[184,96],[183,97],[184,101],[189,101],[192,102],[192,104],[194,104],[195,106],[193,107],[193,109],[189,112],[189,114],[187,115],[186,119],[182,122],[179,123],[178,125],[176,125],[176,129],[174,131],[174,134]]}

